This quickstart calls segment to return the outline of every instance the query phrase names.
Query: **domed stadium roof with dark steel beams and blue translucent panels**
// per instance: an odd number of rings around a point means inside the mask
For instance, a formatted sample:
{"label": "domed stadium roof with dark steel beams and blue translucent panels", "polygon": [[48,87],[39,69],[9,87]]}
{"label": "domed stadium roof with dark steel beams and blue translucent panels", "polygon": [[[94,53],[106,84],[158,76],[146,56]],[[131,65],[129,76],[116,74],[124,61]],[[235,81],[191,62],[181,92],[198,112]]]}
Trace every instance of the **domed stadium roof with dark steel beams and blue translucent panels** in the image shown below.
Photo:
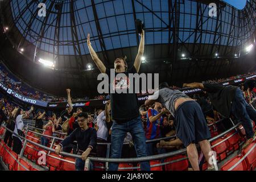
{"label": "domed stadium roof with dark steel beams and blue translucent panels", "polygon": [[[76,96],[97,95],[100,72],[89,55],[87,33],[106,67],[124,55],[131,66],[139,45],[136,19],[146,26],[140,72],[159,73],[160,82],[181,86],[256,68],[254,0],[243,10],[215,0],[43,2],[46,17],[38,16],[39,1],[0,2],[0,59],[19,78],[54,95],[65,96],[66,88]],[[217,16],[209,16],[209,2],[216,3]],[[250,44],[254,50],[247,53]],[[44,67],[39,59],[52,60],[55,67]]]}

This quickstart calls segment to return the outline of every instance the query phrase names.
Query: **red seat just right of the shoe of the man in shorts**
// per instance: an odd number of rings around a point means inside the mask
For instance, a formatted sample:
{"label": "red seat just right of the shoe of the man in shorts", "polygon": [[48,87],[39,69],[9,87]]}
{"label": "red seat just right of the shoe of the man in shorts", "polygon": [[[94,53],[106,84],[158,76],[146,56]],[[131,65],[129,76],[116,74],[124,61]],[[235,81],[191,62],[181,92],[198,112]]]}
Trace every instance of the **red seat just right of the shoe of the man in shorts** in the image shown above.
{"label": "red seat just right of the shoe of the man in shorts", "polygon": [[[241,159],[242,159],[242,155],[235,156],[234,158],[230,159],[221,167],[221,171],[228,171],[231,167],[234,166],[234,164],[236,164]],[[247,171],[247,170],[248,170],[248,167],[245,160],[242,160],[242,162],[238,164],[238,166],[232,169],[232,171]]]}

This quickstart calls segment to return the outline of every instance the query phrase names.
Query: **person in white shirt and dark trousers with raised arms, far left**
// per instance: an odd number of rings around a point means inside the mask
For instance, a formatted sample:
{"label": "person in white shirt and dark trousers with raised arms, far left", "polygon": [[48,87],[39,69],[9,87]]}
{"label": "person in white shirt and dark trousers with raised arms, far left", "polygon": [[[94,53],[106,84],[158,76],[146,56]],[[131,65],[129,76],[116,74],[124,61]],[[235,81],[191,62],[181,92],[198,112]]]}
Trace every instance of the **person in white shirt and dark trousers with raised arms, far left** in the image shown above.
{"label": "person in white shirt and dark trousers with raised arms, far left", "polygon": [[22,109],[18,109],[15,114],[15,129],[13,134],[13,151],[19,155],[22,149],[22,138],[19,137],[18,130],[23,131],[23,121],[22,119],[28,118],[30,113],[34,110],[34,106],[31,106],[31,109],[26,113]]}

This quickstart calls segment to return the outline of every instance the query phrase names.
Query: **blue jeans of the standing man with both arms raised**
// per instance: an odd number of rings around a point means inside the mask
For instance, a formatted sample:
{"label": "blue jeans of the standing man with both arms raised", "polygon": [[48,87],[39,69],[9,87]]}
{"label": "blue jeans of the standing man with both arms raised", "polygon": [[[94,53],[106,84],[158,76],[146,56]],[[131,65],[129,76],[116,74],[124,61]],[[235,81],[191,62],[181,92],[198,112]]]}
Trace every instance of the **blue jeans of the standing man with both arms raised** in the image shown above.
{"label": "blue jeans of the standing man with both arms raised", "polygon": [[[141,117],[134,118],[126,123],[118,124],[113,122],[111,135],[111,156],[110,158],[121,158],[123,140],[127,132],[133,137],[137,157],[146,157],[146,137],[142,126]],[[117,171],[118,163],[109,163],[109,171]],[[150,171],[149,162],[141,162],[142,171]]]}

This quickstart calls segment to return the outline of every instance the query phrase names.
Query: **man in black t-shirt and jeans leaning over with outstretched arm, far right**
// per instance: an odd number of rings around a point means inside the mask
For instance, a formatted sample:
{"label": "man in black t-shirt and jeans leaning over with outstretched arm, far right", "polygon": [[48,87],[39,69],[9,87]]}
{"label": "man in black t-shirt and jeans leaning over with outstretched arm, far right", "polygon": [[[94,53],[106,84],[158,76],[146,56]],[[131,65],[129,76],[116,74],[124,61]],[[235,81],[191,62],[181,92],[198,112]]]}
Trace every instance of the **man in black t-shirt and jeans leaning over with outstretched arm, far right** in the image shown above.
{"label": "man in black t-shirt and jeans leaning over with outstretched arm, far right", "polygon": [[256,111],[245,101],[242,90],[237,86],[223,86],[221,84],[201,84],[193,82],[191,84],[183,84],[183,87],[200,88],[208,93],[210,102],[214,108],[224,117],[230,117],[233,114],[242,122],[245,128],[247,141],[242,148],[246,148],[255,140],[253,125],[251,119],[256,121]]}

